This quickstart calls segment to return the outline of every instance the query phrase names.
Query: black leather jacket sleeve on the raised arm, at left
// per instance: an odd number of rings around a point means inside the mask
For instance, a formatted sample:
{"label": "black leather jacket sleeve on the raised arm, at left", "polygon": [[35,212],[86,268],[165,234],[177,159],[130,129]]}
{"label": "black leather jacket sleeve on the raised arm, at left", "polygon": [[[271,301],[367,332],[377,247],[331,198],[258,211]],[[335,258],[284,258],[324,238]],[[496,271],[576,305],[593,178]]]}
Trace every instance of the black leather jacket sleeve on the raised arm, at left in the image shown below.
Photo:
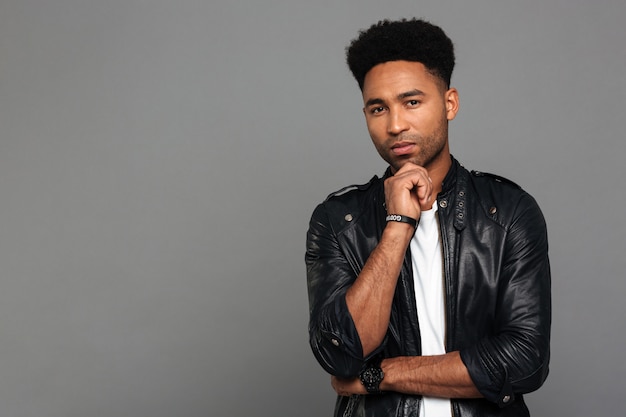
{"label": "black leather jacket sleeve on the raised arm, at left", "polygon": [[357,376],[369,357],[363,358],[345,295],[358,276],[360,266],[342,250],[324,204],[320,204],[311,217],[305,261],[309,342],[313,354],[328,373],[339,377]]}

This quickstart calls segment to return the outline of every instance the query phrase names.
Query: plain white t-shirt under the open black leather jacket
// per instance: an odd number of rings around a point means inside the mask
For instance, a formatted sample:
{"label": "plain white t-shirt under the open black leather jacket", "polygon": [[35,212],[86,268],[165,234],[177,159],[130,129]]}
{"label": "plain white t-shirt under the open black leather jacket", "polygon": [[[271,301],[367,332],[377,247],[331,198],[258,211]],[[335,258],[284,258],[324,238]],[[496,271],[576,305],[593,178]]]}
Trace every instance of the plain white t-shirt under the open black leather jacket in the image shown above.
{"label": "plain white t-shirt under the open black leather jacket", "polygon": [[[422,211],[420,215],[419,225],[411,239],[411,258],[422,355],[441,355],[446,353],[446,323],[443,255],[436,201],[431,210]],[[451,416],[449,399],[423,397],[420,417]]]}

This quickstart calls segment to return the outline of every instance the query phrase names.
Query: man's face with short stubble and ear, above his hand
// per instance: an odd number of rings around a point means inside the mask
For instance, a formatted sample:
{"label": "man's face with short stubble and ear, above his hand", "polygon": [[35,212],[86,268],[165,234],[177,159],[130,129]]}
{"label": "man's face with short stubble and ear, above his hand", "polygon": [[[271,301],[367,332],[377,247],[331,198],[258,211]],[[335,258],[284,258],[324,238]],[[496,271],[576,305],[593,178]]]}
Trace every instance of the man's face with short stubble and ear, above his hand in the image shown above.
{"label": "man's face with short stubble and ear, above his hand", "polygon": [[458,111],[458,93],[423,64],[376,65],[365,76],[363,103],[374,146],[394,173],[409,161],[429,171],[449,165],[448,121]]}

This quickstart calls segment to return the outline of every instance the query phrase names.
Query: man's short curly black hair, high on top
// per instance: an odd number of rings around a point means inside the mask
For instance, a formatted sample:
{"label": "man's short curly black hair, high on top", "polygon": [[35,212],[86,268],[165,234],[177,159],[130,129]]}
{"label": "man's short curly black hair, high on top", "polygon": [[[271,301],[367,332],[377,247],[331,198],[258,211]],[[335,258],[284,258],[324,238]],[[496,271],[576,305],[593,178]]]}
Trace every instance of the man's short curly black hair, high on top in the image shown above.
{"label": "man's short curly black hair, high on top", "polygon": [[381,20],[359,32],[346,48],[346,58],[361,90],[368,71],[389,61],[421,62],[449,88],[454,46],[440,27],[425,20]]}

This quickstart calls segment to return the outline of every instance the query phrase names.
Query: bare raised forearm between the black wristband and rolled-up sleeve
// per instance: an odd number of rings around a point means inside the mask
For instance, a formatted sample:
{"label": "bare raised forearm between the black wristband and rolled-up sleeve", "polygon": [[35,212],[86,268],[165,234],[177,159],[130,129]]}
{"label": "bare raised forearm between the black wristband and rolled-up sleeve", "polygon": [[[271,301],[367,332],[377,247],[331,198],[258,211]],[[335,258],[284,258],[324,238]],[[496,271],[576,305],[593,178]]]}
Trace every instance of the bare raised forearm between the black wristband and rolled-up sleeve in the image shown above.
{"label": "bare raised forearm between the black wristband and rolled-up sleeve", "polygon": [[346,292],[346,304],[364,356],[380,346],[387,333],[393,295],[413,232],[407,224],[388,224],[378,246]]}

